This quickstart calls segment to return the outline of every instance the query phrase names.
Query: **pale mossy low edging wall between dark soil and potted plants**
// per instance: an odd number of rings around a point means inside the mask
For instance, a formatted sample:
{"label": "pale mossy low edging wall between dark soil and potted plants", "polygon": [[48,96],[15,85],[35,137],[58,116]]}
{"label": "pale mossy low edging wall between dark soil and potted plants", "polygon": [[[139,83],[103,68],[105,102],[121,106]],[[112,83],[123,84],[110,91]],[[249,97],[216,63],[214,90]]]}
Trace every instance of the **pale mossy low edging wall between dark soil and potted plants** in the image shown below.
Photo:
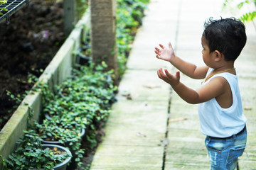
{"label": "pale mossy low edging wall between dark soil and potted plants", "polygon": [[[90,28],[90,11],[76,24],[67,40],[60,47],[53,60],[48,64],[39,81],[44,81],[50,86],[60,84],[66,77],[70,76],[75,62],[74,52],[80,47],[81,40],[85,39],[85,31]],[[41,112],[41,93],[30,91],[16,109],[9,121],[0,132],[0,154],[5,159],[14,152],[16,141],[27,129],[28,114],[33,109],[33,118],[38,120]],[[1,161],[0,161],[1,162]],[[0,170],[3,167],[0,164]]]}

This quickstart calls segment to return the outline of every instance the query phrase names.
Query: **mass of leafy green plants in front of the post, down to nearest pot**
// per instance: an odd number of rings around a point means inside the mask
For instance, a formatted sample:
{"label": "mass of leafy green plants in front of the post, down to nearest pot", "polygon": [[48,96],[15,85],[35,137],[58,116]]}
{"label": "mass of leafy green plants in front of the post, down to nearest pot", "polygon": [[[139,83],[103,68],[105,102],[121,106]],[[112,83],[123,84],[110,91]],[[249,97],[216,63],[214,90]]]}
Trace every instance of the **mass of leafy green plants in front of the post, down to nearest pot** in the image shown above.
{"label": "mass of leafy green plants in front of the post, down to nearest pot", "polygon": [[[85,153],[84,149],[80,149],[81,129],[86,127],[91,129],[87,140],[90,146],[95,146],[97,142],[93,134],[95,125],[106,120],[111,112],[110,106],[114,102],[114,91],[117,87],[113,85],[113,72],[105,72],[106,67],[105,62],[97,66],[95,64],[90,64],[89,67],[80,66],[73,70],[72,77],[63,81],[60,86],[55,86],[55,89],[39,83],[34,90],[40,89],[43,94],[43,114],[47,113],[50,118],[44,119],[41,124],[35,121],[30,125],[30,130],[25,132],[22,140],[18,140],[20,149],[5,160],[6,167],[9,169],[18,169],[16,168],[18,165],[21,169],[26,169],[28,166],[43,169],[53,167],[55,164],[47,157],[44,158],[50,151],[41,151],[43,140],[58,141],[69,147],[75,154],[75,162],[80,166],[82,164],[80,159]],[[9,95],[11,98],[17,98],[12,94]],[[24,152],[23,156],[21,152]],[[21,160],[17,161],[20,158]],[[31,160],[28,162],[25,158]]]}

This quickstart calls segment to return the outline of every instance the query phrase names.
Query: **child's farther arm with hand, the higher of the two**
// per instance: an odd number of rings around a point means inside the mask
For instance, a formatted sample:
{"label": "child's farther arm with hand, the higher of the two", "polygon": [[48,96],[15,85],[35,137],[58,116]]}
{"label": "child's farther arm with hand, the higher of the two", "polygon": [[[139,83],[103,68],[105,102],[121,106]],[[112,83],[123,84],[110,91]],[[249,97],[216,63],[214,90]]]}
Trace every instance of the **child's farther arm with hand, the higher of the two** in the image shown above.
{"label": "child's farther arm with hand, the higher of the two", "polygon": [[188,77],[193,79],[204,79],[206,77],[206,73],[208,71],[207,66],[197,67],[195,64],[191,64],[181,58],[177,57],[174,54],[174,49],[171,46],[171,42],[169,42],[168,47],[164,47],[164,45],[159,44],[161,49],[155,47],[156,57],[171,62],[178,70],[186,74]]}

